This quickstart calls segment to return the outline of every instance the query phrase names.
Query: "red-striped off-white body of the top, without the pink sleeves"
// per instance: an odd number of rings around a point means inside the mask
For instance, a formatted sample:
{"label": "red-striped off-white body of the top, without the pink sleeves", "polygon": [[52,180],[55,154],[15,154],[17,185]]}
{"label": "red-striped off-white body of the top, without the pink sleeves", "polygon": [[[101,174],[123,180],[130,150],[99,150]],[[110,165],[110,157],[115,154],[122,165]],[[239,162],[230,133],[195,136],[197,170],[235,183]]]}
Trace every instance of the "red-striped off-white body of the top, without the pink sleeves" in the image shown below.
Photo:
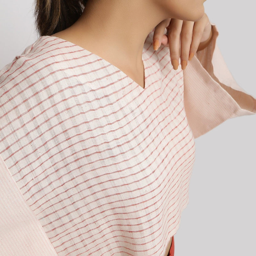
{"label": "red-striped off-white body of the top, without the pink sleeves", "polygon": [[[163,255],[165,240],[180,224],[195,143],[183,106],[183,71],[168,70],[170,57],[164,47],[158,52],[151,48],[146,43],[143,49],[148,55],[143,59],[145,89],[101,57],[51,36],[37,40],[1,74],[0,89],[6,90],[0,95],[7,100],[0,108],[8,107],[0,115],[0,154],[60,255]],[[37,65],[40,61],[47,65]],[[95,78],[89,79],[89,74]],[[66,80],[65,88],[56,86]],[[76,92],[84,86],[82,81],[91,88]],[[44,88],[37,90],[42,83]],[[46,90],[52,93],[41,100]],[[83,100],[84,95],[94,96]],[[17,104],[9,107],[14,100]],[[93,107],[81,111],[87,105]]]}

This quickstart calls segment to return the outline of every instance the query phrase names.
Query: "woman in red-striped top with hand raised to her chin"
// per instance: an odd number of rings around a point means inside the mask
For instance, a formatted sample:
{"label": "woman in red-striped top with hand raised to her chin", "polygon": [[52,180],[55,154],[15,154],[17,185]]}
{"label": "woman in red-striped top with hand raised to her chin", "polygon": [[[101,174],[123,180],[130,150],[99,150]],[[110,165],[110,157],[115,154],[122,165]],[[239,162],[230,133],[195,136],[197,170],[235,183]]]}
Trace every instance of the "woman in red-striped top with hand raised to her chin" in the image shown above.
{"label": "woman in red-striped top with hand raised to her chin", "polygon": [[203,3],[37,1],[41,37],[0,73],[2,204],[24,196],[33,223],[19,252],[173,255],[194,138],[256,112]]}

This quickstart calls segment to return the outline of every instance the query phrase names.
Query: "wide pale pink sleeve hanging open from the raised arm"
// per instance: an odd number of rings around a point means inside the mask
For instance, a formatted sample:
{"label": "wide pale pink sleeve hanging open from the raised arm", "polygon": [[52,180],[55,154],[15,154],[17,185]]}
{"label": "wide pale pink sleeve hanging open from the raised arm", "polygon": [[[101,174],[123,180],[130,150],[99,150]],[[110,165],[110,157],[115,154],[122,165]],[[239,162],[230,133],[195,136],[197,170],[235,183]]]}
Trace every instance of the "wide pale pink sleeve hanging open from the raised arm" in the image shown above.
{"label": "wide pale pink sleeve hanging open from the raised arm", "polygon": [[211,24],[211,43],[198,51],[183,71],[184,106],[194,138],[228,118],[256,113],[256,99],[231,75],[216,44],[219,32]]}

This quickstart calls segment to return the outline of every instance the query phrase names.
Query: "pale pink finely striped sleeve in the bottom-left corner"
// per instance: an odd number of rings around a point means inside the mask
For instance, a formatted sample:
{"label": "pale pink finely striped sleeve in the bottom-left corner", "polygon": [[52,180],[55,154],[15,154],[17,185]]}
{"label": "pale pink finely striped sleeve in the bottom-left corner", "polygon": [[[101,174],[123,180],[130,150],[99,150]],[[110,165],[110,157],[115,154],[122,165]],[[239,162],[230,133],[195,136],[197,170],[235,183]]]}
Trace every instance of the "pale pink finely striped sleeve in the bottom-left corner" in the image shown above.
{"label": "pale pink finely striped sleeve in the bottom-left corner", "polygon": [[58,256],[0,155],[0,256]]}

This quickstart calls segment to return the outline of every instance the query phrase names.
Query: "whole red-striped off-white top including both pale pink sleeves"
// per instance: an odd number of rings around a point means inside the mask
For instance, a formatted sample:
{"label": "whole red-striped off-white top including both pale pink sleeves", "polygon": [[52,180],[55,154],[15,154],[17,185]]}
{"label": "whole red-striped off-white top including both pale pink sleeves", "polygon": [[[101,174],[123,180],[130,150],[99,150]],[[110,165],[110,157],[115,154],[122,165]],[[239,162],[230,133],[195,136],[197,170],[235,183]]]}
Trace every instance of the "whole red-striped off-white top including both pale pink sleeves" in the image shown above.
{"label": "whole red-striped off-white top including both pale pink sleeves", "polygon": [[42,36],[0,71],[0,255],[162,256],[188,204],[195,139],[256,99],[216,44],[183,71],[143,48],[145,88]]}

